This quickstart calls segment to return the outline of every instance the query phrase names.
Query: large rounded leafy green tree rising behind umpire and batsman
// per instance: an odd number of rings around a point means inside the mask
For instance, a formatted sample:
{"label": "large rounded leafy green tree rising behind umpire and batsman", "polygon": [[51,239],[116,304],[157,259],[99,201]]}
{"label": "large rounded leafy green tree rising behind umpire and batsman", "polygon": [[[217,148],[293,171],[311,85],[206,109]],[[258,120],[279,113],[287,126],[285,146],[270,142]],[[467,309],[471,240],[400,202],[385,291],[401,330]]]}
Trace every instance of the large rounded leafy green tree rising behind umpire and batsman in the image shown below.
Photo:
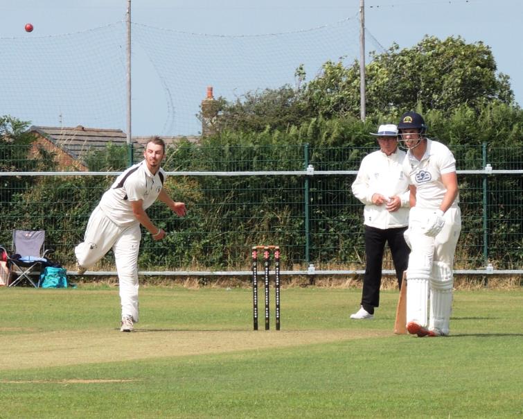
{"label": "large rounded leafy green tree rising behind umpire and batsman", "polygon": [[[514,105],[510,80],[497,74],[492,51],[483,42],[461,37],[425,36],[410,49],[393,44],[387,53],[371,53],[366,66],[369,114],[397,117],[405,110],[450,112],[468,104],[479,109],[492,101]],[[326,62],[323,74],[305,87],[305,109],[331,118],[360,114],[360,67]]]}

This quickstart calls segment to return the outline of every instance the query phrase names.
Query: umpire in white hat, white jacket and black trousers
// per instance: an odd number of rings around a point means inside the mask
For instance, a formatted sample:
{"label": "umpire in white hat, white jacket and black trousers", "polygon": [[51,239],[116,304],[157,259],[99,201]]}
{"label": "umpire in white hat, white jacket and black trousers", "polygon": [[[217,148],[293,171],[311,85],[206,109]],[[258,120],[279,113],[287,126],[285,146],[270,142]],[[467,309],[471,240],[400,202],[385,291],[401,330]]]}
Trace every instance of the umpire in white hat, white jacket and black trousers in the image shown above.
{"label": "umpire in white hat, white jacket and black trousers", "polygon": [[351,318],[374,317],[380,305],[382,263],[385,243],[389,243],[398,285],[407,269],[410,249],[403,232],[409,223],[409,180],[403,174],[405,151],[398,148],[396,125],[381,125],[378,132],[380,150],[366,155],[352,185],[353,194],[364,203],[366,268],[360,310]]}

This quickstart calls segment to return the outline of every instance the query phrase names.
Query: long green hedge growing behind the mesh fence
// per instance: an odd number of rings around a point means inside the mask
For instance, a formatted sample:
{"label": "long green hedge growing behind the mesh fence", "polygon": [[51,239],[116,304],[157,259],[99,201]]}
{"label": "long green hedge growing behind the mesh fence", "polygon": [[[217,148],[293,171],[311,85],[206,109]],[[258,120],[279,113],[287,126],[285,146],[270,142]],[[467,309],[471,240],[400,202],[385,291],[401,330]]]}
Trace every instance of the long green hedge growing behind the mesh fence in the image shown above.
{"label": "long green hedge growing behind the mesh fence", "polygon": [[[474,109],[460,105],[450,114],[424,114],[431,137],[449,145],[460,170],[478,170],[486,162],[495,169],[521,169],[523,112],[499,101]],[[302,171],[308,164],[318,170],[357,170],[364,155],[377,148],[369,132],[383,119],[362,123],[355,117],[311,118],[287,130],[260,132],[224,130],[202,139],[168,148],[166,171]],[[483,151],[483,143],[486,144]],[[486,155],[484,155],[486,153]],[[123,148],[109,146],[97,152],[100,168],[123,162]],[[93,164],[98,164],[96,160]],[[6,178],[3,178],[5,180]],[[20,177],[19,185],[4,200],[0,218],[5,227],[0,242],[9,243],[12,226],[45,228],[56,258],[73,264],[73,247],[100,196],[114,176]],[[28,182],[30,180],[30,182]],[[284,246],[284,266],[305,263],[309,232],[310,262],[361,267],[364,259],[362,205],[351,194],[353,176],[170,176],[166,188],[188,206],[183,219],[162,203],[148,213],[169,232],[161,242],[144,234],[140,267],[147,270],[245,269],[248,248],[256,243]],[[484,265],[483,220],[488,216],[490,259],[498,268],[521,266],[523,202],[520,177],[486,179],[460,175],[463,232],[459,268]],[[308,188],[308,200],[305,189]],[[484,205],[488,205],[485,212]],[[308,219],[308,225],[306,220]],[[110,260],[110,256],[109,256]]]}

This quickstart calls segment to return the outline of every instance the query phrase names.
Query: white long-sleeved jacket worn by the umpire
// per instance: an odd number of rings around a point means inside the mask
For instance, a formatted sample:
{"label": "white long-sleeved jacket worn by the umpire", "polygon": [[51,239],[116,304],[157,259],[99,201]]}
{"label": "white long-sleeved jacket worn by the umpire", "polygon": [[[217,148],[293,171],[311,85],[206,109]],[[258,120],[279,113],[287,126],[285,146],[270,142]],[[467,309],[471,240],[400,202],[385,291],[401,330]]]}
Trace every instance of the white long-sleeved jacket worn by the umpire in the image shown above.
{"label": "white long-sleeved jacket worn by the umpire", "polygon": [[[409,224],[409,180],[402,171],[405,154],[405,151],[397,148],[391,155],[378,150],[363,158],[352,190],[354,196],[365,204],[365,225],[384,230]],[[385,204],[372,203],[373,194],[399,196],[401,207],[398,211],[389,212]]]}

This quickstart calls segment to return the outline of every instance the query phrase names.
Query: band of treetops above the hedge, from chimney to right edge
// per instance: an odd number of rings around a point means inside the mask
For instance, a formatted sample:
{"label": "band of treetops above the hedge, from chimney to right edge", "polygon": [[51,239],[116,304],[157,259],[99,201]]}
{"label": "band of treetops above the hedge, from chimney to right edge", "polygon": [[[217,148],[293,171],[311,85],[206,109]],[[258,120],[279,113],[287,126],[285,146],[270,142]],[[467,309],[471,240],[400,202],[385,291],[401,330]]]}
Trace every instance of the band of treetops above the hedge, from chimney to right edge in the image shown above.
{"label": "band of treetops above the hedge, from chimney to right edge", "polygon": [[[366,110],[376,122],[396,121],[405,110],[439,111],[448,116],[463,106],[481,112],[489,105],[515,105],[510,78],[497,73],[490,47],[461,37],[425,36],[409,49],[393,44],[371,53],[366,66]],[[235,102],[218,99],[218,129],[234,132],[291,132],[306,142],[320,139],[321,119],[360,118],[360,65],[323,64],[308,83],[296,69],[297,87],[248,92]],[[318,119],[319,118],[319,119]],[[299,134],[298,134],[299,133]]]}

